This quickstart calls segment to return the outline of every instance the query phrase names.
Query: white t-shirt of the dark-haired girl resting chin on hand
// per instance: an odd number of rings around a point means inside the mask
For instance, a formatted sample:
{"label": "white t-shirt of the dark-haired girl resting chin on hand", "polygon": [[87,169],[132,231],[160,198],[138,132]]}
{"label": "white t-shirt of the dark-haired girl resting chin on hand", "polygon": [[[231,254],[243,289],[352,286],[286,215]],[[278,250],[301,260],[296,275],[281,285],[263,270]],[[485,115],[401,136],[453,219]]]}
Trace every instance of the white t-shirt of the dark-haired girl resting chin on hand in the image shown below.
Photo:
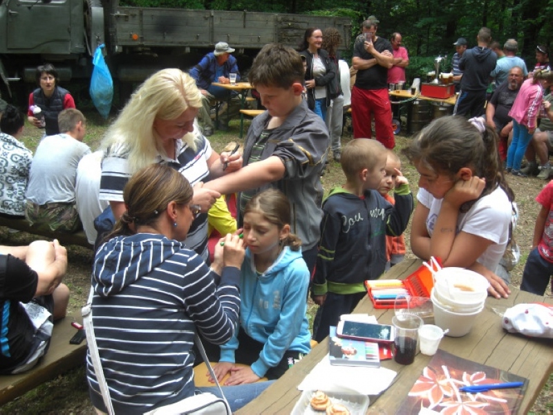
{"label": "white t-shirt of the dark-haired girl resting chin on hand", "polygon": [[[426,225],[429,235],[432,236],[443,199],[434,199],[424,189],[419,189],[417,199],[430,210]],[[503,257],[509,239],[511,216],[511,203],[500,187],[478,199],[468,212],[460,213],[458,216],[456,234],[462,231],[493,242],[478,258],[478,262],[489,270],[495,270]]]}

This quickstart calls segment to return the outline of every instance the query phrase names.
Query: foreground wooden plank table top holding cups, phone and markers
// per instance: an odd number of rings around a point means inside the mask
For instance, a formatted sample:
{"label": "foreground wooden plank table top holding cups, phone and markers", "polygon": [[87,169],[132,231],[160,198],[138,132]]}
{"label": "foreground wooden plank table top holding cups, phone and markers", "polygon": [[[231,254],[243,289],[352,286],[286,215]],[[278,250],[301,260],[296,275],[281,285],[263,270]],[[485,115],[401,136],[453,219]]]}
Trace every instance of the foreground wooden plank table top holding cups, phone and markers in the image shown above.
{"label": "foreground wooden plank table top holding cups, phone and markers", "polygon": [[[420,264],[419,259],[405,259],[382,278],[404,279],[413,273]],[[440,342],[440,349],[528,378],[527,391],[519,412],[526,414],[553,371],[551,358],[553,342],[507,333],[501,326],[500,315],[494,309],[503,312],[514,304],[529,302],[553,304],[553,299],[519,291],[514,287],[511,287],[511,291],[512,293],[507,299],[488,297],[484,311],[478,315],[471,332],[461,338],[444,337]],[[373,308],[373,303],[367,296],[359,302],[354,313],[375,315],[379,323],[391,324],[394,311],[393,309]],[[326,356],[326,353],[328,353],[328,339],[318,344],[301,362],[286,371],[284,376],[236,414],[290,414],[302,393],[297,386]],[[424,356],[421,353],[418,353],[412,365],[407,366],[399,365],[393,359],[383,360],[382,367],[397,371],[397,376],[395,382],[381,396],[378,398],[371,396],[369,410],[373,412],[375,409],[377,411],[384,409],[386,414],[395,414],[415,380],[422,374],[422,369],[428,365],[430,360],[431,356]]]}

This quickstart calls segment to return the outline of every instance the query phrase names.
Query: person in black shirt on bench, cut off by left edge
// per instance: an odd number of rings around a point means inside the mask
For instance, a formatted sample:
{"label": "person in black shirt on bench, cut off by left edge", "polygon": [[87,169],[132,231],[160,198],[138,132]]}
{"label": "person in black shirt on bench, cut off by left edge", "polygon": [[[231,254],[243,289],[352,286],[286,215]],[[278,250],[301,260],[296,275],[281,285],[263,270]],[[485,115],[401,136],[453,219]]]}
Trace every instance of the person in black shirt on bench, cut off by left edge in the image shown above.
{"label": "person in black shirt on bench, cut off by left edge", "polygon": [[0,374],[27,371],[48,351],[52,323],[66,315],[66,270],[57,240],[0,246]]}

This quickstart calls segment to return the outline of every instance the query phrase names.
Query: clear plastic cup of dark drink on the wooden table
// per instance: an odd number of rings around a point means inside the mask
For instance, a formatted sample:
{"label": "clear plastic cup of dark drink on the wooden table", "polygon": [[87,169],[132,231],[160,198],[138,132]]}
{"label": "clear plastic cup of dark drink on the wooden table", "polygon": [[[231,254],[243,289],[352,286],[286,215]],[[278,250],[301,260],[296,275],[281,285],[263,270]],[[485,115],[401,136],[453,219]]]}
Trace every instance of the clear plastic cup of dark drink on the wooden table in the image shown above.
{"label": "clear plastic cup of dark drink on the wooden table", "polygon": [[411,365],[417,353],[422,318],[414,314],[400,314],[392,317],[392,324],[395,329],[393,358],[400,365]]}

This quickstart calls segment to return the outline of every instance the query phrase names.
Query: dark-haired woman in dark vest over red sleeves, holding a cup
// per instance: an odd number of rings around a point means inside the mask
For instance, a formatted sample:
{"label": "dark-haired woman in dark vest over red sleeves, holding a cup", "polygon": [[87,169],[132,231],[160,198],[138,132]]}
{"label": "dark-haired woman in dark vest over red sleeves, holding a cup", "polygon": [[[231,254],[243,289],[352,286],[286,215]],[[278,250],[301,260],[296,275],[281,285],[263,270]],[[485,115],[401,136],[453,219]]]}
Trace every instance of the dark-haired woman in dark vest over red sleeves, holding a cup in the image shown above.
{"label": "dark-haired woman in dark vest over red sleeves, holding a cup", "polygon": [[[29,95],[28,120],[35,127],[44,128],[46,136],[59,134],[57,116],[66,108],[75,108],[75,100],[69,91],[57,85],[59,78],[53,64],[37,67],[35,78],[39,88]],[[41,109],[40,116],[33,113],[35,106]]]}

